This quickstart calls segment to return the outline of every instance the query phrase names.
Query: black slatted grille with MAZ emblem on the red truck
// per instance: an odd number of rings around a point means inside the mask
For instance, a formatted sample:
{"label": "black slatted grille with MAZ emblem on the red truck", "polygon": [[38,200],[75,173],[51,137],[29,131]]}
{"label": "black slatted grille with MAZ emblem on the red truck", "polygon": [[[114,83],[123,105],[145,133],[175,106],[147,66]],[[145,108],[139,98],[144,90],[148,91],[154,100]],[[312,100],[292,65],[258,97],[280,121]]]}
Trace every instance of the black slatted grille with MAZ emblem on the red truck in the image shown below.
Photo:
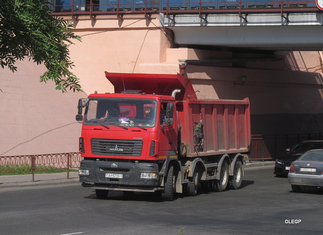
{"label": "black slatted grille with MAZ emblem on the red truck", "polygon": [[110,156],[140,156],[141,140],[91,139],[92,154]]}

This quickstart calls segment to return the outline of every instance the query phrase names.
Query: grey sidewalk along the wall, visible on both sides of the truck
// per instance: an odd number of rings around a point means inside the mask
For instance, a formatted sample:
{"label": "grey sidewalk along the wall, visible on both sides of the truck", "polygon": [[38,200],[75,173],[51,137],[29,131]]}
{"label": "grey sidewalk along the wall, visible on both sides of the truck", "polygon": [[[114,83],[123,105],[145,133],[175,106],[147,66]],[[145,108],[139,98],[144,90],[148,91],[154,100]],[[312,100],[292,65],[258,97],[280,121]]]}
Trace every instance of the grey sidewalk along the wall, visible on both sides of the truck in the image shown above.
{"label": "grey sidewalk along the wall, visible on both sides of the truck", "polygon": [[[255,166],[274,166],[275,161],[266,162],[251,162],[246,163],[245,168]],[[9,187],[33,187],[46,185],[61,185],[61,184],[80,184],[78,172],[70,172],[69,179],[67,173],[53,173],[53,174],[35,174],[35,182],[32,182],[32,175],[14,175],[2,176],[0,174],[0,190]]]}

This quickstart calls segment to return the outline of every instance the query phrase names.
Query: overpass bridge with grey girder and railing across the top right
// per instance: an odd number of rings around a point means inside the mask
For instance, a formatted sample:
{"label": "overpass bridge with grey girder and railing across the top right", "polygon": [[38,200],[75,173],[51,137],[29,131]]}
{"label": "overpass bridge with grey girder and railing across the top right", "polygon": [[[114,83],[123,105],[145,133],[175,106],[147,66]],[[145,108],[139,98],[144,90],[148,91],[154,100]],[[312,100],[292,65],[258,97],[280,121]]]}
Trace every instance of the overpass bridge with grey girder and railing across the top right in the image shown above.
{"label": "overpass bridge with grey girder and railing across the top right", "polygon": [[53,0],[53,15],[160,14],[178,45],[270,51],[323,48],[323,11],[316,1]]}

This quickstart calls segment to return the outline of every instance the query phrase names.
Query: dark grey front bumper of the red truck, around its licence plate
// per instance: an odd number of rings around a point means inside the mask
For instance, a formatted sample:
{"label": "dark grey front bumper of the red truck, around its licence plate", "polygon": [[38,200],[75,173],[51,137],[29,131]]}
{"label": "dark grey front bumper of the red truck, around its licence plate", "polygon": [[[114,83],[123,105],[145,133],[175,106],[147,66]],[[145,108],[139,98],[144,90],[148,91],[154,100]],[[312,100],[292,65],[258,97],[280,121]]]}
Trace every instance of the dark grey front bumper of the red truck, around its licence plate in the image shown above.
{"label": "dark grey front bumper of the red truck, around its licence plate", "polygon": [[[140,178],[142,172],[157,173],[158,175],[158,165],[154,163],[82,160],[80,169],[89,170],[89,175],[79,176],[80,182],[85,188],[155,191],[156,187],[160,185],[160,178]],[[122,177],[108,177],[108,174],[122,175]]]}

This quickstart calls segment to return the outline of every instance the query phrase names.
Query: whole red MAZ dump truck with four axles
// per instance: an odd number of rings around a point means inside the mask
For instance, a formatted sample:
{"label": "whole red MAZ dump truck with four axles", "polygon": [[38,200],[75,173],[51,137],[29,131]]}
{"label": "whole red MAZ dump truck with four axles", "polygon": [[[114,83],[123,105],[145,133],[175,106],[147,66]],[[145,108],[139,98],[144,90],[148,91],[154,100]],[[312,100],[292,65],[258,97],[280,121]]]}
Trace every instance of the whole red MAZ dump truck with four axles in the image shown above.
{"label": "whole red MAZ dump truck with four axles", "polygon": [[174,192],[196,196],[199,184],[219,192],[241,186],[251,139],[248,98],[198,100],[182,71],[105,74],[116,93],[78,102],[82,187],[98,198],[109,190],[160,191],[171,201]]}

